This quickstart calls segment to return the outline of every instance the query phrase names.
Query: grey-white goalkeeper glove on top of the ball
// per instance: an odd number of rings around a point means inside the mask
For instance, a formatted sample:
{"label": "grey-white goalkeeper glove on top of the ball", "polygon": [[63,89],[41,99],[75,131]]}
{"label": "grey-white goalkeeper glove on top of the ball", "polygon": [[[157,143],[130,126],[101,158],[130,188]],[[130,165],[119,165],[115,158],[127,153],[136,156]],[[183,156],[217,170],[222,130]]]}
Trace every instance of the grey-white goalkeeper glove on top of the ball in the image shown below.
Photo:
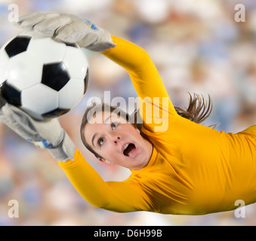
{"label": "grey-white goalkeeper glove on top of the ball", "polygon": [[23,29],[32,29],[66,43],[77,43],[89,50],[103,52],[116,46],[108,31],[95,26],[90,20],[72,14],[26,14],[19,18],[18,24]]}

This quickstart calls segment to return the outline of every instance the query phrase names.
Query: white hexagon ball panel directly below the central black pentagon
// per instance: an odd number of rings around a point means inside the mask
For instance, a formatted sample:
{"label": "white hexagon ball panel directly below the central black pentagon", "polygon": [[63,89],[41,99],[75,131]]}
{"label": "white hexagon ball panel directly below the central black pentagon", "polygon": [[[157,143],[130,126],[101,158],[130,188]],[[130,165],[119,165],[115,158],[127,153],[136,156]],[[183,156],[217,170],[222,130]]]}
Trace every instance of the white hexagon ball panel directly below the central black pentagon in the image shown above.
{"label": "white hexagon ball panel directly below the central black pentagon", "polygon": [[53,111],[58,107],[57,91],[45,86],[36,84],[21,92],[21,108],[26,110],[32,117],[42,119],[41,114]]}

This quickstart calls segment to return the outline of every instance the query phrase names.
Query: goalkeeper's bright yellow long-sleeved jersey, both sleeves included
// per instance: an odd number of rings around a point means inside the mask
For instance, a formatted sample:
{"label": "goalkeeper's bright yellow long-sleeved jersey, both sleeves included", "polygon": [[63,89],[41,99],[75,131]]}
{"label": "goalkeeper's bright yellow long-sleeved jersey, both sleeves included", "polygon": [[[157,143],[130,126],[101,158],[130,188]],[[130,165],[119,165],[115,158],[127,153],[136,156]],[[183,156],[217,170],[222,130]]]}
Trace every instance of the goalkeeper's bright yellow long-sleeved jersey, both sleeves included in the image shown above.
{"label": "goalkeeper's bright yellow long-sleeved jersey, both sleeves included", "polygon": [[[237,208],[236,200],[256,202],[256,126],[224,133],[180,117],[147,52],[112,37],[116,47],[103,55],[128,71],[142,100],[142,132],[153,143],[153,154],[124,182],[104,182],[76,150],[75,160],[60,166],[82,197],[114,212],[175,215],[228,211]],[[151,111],[143,108],[145,99]]]}

